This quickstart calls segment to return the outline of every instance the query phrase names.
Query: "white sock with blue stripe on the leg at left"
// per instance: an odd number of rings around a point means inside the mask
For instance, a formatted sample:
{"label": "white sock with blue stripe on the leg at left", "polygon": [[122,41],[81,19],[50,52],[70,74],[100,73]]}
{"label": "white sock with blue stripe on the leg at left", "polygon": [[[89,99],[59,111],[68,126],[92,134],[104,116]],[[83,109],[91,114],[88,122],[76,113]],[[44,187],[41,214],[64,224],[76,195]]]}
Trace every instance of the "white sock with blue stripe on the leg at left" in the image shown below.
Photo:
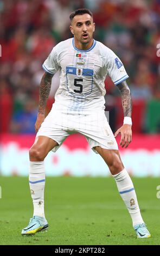
{"label": "white sock with blue stripe on the leg at left", "polygon": [[45,173],[44,162],[30,162],[29,186],[31,198],[33,199],[34,216],[44,216],[44,186]]}

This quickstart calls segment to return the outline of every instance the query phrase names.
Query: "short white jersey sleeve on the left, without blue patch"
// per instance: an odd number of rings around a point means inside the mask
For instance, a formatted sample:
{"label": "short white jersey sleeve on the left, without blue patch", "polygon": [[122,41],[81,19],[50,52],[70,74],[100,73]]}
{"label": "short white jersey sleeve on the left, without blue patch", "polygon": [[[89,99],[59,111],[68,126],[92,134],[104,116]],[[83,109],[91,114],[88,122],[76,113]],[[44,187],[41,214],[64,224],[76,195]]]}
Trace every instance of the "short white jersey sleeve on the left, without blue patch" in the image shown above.
{"label": "short white jersey sleeve on the left, without blue patch", "polygon": [[49,74],[54,75],[59,70],[59,65],[57,63],[57,47],[53,47],[52,52],[50,52],[48,58],[44,61],[42,68]]}

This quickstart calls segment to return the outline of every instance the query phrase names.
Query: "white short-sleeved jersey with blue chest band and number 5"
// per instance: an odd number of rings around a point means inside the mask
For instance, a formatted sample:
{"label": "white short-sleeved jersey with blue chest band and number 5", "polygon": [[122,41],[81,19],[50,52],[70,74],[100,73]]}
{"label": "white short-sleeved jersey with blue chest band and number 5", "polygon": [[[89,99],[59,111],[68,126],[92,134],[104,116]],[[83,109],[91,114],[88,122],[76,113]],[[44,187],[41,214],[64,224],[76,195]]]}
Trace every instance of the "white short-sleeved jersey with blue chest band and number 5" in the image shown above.
{"label": "white short-sleeved jersey with blue chest band and number 5", "polygon": [[115,85],[128,78],[116,54],[99,41],[86,51],[74,46],[74,38],[57,44],[43,63],[49,74],[60,70],[60,86],[53,109],[61,113],[88,113],[105,109],[105,78]]}

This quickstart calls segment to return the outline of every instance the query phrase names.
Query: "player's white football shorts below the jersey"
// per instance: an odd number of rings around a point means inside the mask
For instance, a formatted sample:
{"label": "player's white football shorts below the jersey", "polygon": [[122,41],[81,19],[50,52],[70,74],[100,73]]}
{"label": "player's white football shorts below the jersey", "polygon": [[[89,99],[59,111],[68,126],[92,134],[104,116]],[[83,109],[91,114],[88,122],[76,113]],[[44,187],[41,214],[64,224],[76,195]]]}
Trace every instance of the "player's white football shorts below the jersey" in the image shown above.
{"label": "player's white football shorts below the jersey", "polygon": [[106,119],[104,111],[89,114],[65,114],[52,109],[44,119],[37,136],[47,136],[59,145],[52,149],[55,152],[73,134],[84,135],[95,153],[96,146],[104,149],[118,150],[116,139]]}

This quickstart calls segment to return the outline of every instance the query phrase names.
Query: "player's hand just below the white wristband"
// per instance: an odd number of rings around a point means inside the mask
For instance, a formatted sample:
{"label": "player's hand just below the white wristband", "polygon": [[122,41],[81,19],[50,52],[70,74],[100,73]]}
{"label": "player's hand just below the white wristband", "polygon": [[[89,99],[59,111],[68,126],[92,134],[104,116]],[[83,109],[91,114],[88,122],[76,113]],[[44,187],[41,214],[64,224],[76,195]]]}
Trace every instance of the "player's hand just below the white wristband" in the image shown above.
{"label": "player's hand just below the white wristband", "polygon": [[119,144],[122,148],[127,148],[132,141],[132,125],[124,124],[114,133],[114,137],[116,138],[119,133],[121,133]]}

